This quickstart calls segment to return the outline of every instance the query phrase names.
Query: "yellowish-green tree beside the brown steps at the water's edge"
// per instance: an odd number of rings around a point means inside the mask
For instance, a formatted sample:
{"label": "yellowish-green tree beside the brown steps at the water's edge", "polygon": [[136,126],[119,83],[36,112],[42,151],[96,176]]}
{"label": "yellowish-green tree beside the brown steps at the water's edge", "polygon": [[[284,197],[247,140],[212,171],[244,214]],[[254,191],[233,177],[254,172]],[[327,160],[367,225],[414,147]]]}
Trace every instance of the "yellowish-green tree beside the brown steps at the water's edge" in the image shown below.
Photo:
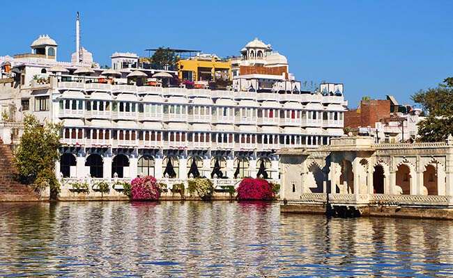
{"label": "yellowish-green tree beside the brown steps at the water's edge", "polygon": [[36,190],[50,186],[52,196],[60,190],[54,167],[60,152],[60,130],[63,124],[40,124],[33,115],[24,115],[24,134],[15,150],[14,164],[22,183]]}

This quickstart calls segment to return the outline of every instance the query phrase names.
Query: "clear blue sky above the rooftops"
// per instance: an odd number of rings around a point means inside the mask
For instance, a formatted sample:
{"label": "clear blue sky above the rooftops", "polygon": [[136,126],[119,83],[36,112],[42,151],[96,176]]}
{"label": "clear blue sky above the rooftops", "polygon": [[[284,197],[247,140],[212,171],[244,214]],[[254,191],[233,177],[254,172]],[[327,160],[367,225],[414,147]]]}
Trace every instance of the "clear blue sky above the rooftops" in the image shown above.
{"label": "clear blue sky above the rooftops", "polygon": [[[20,3],[20,4],[19,4]],[[355,108],[362,96],[410,95],[453,76],[453,1],[2,1],[0,56],[28,53],[40,34],[59,60],[82,45],[101,65],[115,51],[201,49],[237,56],[254,38],[288,58],[300,81],[344,83]]]}

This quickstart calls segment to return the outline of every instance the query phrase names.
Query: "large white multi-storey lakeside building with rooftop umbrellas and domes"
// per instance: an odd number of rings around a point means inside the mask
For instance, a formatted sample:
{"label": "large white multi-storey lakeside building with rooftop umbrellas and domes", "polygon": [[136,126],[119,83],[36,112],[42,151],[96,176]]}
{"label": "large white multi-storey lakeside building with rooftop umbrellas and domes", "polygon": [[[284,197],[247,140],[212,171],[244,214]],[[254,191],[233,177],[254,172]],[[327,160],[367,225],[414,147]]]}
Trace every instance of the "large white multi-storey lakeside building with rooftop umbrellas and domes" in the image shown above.
{"label": "large white multi-storey lakeside building with rooftop umbrellas and domes", "polygon": [[279,149],[344,133],[343,85],[302,91],[286,58],[257,39],[232,60],[225,90],[168,85],[177,72],[140,68],[131,53],[114,54],[112,70],[83,47],[59,62],[57,47],[42,35],[31,54],[0,56],[0,106],[12,122],[25,113],[63,122],[60,178],[278,180]]}

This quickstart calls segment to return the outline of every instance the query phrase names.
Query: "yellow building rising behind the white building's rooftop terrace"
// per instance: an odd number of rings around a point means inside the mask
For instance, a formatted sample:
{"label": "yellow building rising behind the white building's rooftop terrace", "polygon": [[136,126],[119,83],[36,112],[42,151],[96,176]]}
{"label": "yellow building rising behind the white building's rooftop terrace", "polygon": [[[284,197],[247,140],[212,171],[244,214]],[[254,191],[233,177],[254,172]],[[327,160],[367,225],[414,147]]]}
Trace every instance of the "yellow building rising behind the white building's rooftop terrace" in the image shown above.
{"label": "yellow building rising behind the white building's rooftop terrace", "polygon": [[231,59],[197,54],[179,60],[178,74],[181,81],[231,81]]}

